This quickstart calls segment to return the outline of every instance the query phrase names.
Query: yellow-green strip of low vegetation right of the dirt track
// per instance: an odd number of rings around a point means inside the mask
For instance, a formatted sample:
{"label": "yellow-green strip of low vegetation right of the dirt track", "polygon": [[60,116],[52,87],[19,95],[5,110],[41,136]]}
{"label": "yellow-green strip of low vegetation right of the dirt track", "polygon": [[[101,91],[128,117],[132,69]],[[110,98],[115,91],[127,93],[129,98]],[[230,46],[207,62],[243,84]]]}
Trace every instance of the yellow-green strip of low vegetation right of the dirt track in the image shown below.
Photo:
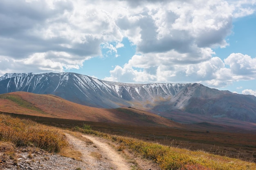
{"label": "yellow-green strip of low vegetation right of the dirt track", "polygon": [[132,152],[153,160],[164,170],[254,170],[256,164],[206,153],[201,150],[191,151],[187,149],[164,146],[153,142],[144,142],[130,137],[108,135],[99,131],[84,128],[73,128],[87,134],[102,136],[118,142],[118,150],[127,148]]}

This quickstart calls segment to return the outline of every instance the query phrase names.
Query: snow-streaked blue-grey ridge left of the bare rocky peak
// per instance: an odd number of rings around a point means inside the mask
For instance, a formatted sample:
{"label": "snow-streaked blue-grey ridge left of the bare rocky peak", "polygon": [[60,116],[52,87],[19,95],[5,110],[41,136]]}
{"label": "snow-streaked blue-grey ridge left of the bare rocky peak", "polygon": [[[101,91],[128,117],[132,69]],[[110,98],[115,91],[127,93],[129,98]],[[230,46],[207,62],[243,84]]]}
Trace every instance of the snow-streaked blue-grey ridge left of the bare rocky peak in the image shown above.
{"label": "snow-streaked blue-grey ridge left of the bare rocky peak", "polygon": [[4,74],[0,94],[54,94],[82,105],[102,108],[130,106],[130,101],[154,101],[174,96],[185,84],[127,84],[102,81],[76,73]]}

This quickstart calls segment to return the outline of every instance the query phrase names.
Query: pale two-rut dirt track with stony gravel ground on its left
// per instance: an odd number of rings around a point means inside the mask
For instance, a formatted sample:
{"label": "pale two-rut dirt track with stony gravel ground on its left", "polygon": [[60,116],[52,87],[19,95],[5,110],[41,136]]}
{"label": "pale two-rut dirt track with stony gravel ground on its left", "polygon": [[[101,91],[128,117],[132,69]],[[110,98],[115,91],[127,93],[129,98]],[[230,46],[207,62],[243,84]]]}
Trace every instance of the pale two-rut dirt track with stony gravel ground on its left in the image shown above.
{"label": "pale two-rut dirt track with stony gravel ground on its left", "polygon": [[[15,148],[17,157],[10,159],[4,151],[0,151],[1,170],[160,170],[156,163],[141,158],[129,150],[117,151],[118,144],[93,135],[83,134],[80,137],[64,132],[70,149],[82,154],[78,161],[71,157],[63,157],[56,153],[48,153],[38,148]],[[74,134],[75,135],[75,134]],[[76,135],[75,135],[76,136]],[[70,155],[71,156],[71,155]]]}

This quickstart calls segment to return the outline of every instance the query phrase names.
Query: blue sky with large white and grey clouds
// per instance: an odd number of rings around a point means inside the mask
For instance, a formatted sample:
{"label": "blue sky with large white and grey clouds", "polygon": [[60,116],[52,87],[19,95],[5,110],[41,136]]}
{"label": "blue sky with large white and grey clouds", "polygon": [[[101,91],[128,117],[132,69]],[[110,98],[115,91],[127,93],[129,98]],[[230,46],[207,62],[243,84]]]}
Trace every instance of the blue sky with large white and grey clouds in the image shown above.
{"label": "blue sky with large white and grey clouds", "polygon": [[0,76],[75,72],[256,96],[256,0],[1,0]]}

